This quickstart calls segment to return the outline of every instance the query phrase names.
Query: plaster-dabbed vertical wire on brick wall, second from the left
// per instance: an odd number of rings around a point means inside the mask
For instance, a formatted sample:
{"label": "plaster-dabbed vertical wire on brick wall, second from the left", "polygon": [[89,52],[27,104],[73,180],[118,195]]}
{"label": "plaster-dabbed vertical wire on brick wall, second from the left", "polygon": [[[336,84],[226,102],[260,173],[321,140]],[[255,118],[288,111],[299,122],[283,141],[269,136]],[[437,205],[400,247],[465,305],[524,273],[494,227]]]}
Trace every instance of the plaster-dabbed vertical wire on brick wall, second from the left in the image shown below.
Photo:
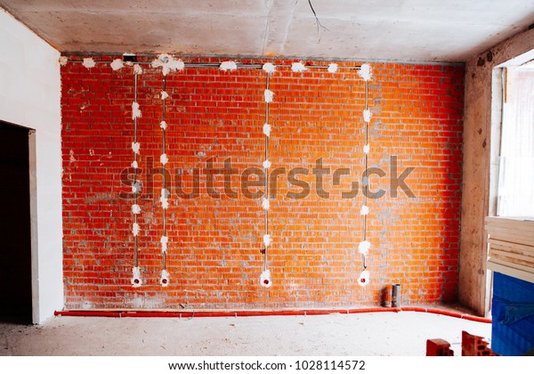
{"label": "plaster-dabbed vertical wire on brick wall, second from the left", "polygon": [[[161,279],[159,280],[159,284],[161,284],[162,287],[166,287],[169,284],[169,272],[166,270],[166,250],[167,250],[167,243],[168,243],[168,236],[166,232],[166,209],[169,206],[168,198],[169,198],[169,191],[167,190],[167,180],[166,180],[166,163],[168,162],[168,158],[166,155],[166,99],[168,97],[168,94],[166,93],[166,75],[163,76],[163,90],[161,92],[161,100],[162,100],[162,115],[161,115],[161,156],[159,158],[159,162],[161,162],[162,165],[162,171],[163,171],[163,180],[162,180],[162,187],[161,187],[161,197],[159,198],[161,202],[162,207],[162,235],[161,235],[161,252],[163,257],[163,269],[161,270]],[[165,126],[164,126],[165,124]]]}

